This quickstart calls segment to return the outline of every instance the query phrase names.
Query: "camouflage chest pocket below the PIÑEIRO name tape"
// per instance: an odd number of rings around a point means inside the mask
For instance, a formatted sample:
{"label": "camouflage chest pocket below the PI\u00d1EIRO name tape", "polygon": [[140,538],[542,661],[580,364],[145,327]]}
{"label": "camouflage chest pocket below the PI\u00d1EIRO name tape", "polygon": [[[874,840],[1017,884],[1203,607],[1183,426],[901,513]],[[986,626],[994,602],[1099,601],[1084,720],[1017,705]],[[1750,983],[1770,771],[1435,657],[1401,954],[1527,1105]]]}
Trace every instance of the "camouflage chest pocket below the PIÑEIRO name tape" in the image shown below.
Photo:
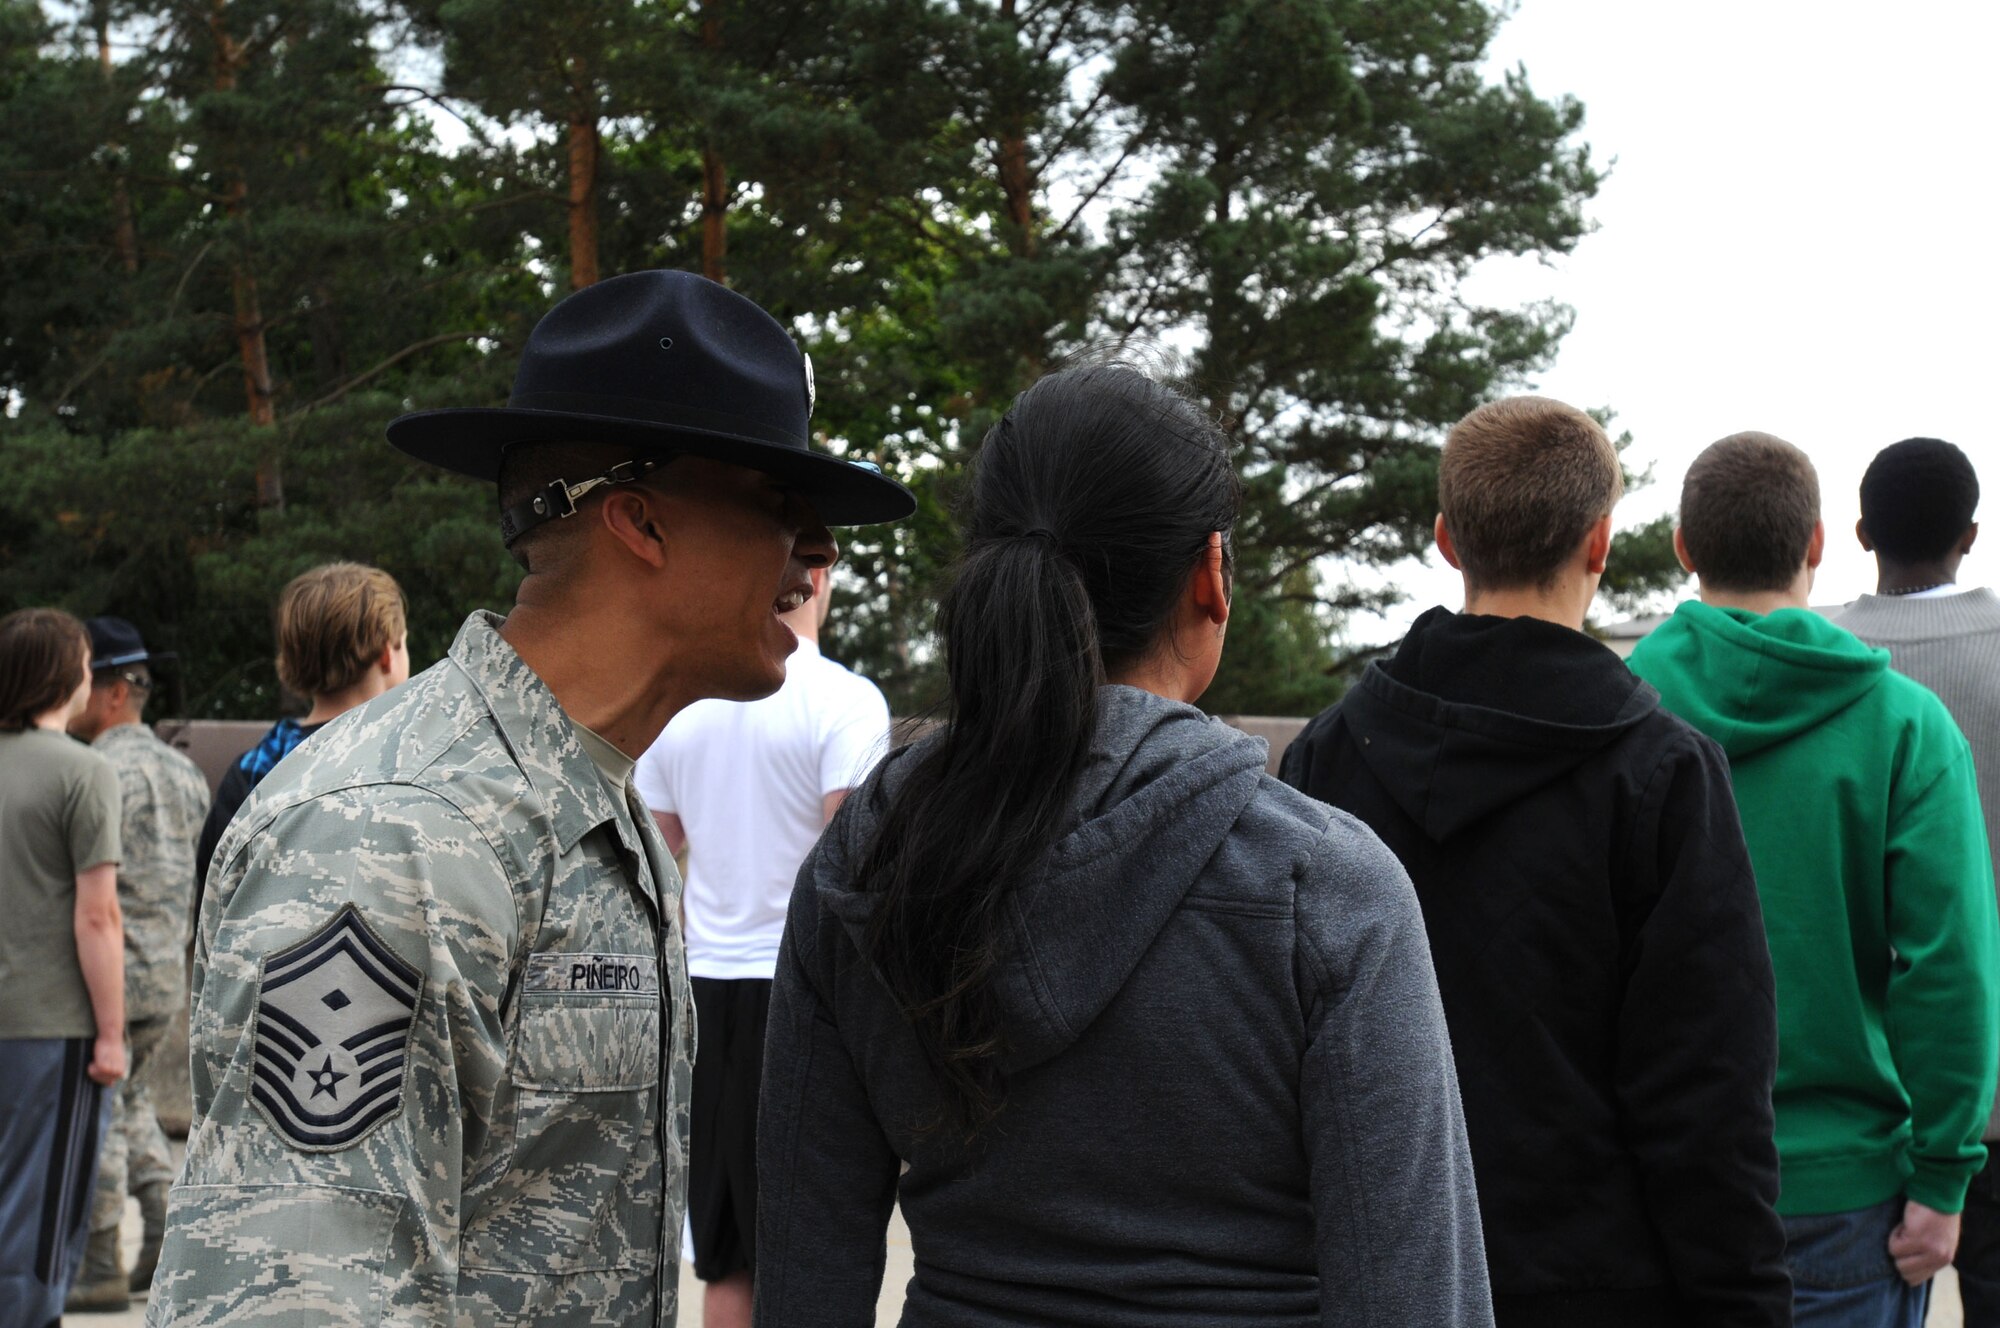
{"label": "camouflage chest pocket below the PI\u00d1EIRO name tape", "polygon": [[508,1054],[512,1148],[466,1196],[462,1266],[652,1270],[660,1260],[660,1002],[526,992]]}

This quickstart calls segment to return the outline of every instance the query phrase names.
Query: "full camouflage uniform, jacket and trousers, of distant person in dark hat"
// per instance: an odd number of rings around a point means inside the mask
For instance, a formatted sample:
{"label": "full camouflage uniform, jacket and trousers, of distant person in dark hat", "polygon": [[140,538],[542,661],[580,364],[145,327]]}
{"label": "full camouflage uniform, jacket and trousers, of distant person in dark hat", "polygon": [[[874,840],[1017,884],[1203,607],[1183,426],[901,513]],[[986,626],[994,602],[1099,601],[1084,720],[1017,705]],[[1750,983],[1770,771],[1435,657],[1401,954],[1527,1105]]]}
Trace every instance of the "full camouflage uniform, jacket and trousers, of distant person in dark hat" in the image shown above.
{"label": "full camouflage uniform, jacket and trousers, of distant person in dark hat", "polygon": [[92,742],[118,772],[122,802],[118,908],[126,940],[126,1078],[112,1098],[112,1126],[98,1156],[90,1230],[118,1226],[126,1194],[174,1178],[150,1078],[188,1002],[188,900],[194,840],[208,816],[200,768],[144,724],[106,728]]}

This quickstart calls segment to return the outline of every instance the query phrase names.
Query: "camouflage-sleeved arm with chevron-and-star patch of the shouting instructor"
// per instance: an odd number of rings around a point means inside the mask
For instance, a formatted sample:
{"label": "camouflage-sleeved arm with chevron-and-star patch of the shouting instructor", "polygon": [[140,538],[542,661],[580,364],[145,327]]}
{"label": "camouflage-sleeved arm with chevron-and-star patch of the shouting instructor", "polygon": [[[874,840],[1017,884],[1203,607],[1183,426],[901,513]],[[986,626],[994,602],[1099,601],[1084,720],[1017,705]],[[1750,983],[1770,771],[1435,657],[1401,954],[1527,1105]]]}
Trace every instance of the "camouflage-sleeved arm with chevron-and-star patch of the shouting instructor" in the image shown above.
{"label": "camouflage-sleeved arm with chevron-and-star patch of the shouting instructor", "polygon": [[[250,1302],[306,1320],[332,1314],[328,1306],[376,1306],[398,1324],[490,1314],[458,1300],[460,1224],[466,1188],[494,1156],[484,1140],[500,1126],[500,1002],[520,940],[514,880],[526,876],[476,822],[406,786],[320,796],[224,838],[188,1036],[196,1124],[148,1324],[234,1324]],[[336,962],[324,958],[332,950],[312,958],[312,942],[334,936],[350,906],[368,940],[346,932],[340,954],[370,954],[368,964],[338,960],[346,1000],[338,1010],[308,1004],[300,1018],[328,1050],[356,1036],[356,1014],[374,1020],[366,1054],[374,1066],[400,1062],[398,1102],[384,1118],[306,1122],[314,1132],[300,1134],[268,1074],[288,1064],[280,1058],[302,1072],[322,1062],[312,1048],[292,1056],[292,1024],[262,1024],[266,998],[284,1000],[262,984],[274,956],[280,966]],[[410,1010],[408,1024],[398,1008]],[[304,1092],[298,1074],[276,1082]],[[342,1106],[346,1080],[330,1088],[332,1100],[308,1094],[308,1110],[356,1108]]]}

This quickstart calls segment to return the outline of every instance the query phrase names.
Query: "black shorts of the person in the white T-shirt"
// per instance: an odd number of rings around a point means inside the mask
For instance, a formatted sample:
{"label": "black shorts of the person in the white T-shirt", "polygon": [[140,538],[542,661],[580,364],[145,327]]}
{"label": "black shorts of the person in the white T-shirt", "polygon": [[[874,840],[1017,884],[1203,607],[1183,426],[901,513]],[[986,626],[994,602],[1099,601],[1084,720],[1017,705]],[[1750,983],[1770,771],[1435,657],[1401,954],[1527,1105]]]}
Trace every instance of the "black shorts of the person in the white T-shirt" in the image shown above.
{"label": "black shorts of the person in the white T-shirt", "polygon": [[694,1276],[756,1266],[756,1094],[764,1080],[768,978],[692,978],[694,1102],[688,1114],[688,1226]]}

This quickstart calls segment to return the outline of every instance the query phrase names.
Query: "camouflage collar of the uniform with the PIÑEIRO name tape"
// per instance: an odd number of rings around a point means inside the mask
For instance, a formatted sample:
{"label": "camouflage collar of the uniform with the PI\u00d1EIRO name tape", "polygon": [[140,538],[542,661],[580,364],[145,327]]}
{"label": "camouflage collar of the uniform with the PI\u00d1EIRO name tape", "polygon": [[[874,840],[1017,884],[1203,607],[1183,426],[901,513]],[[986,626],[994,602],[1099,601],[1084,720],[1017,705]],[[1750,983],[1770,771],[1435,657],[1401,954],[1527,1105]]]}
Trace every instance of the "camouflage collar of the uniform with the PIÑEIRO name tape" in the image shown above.
{"label": "camouflage collar of the uniform with the PI\u00d1EIRO name tape", "polygon": [[[502,622],[500,614],[484,610],[466,618],[452,642],[452,662],[486,702],[522,776],[542,798],[556,844],[570,852],[604,822],[616,822],[618,810],[562,702],[514,646],[500,638]],[[622,834],[618,838],[624,840]],[[638,846],[630,848],[636,852]]]}

